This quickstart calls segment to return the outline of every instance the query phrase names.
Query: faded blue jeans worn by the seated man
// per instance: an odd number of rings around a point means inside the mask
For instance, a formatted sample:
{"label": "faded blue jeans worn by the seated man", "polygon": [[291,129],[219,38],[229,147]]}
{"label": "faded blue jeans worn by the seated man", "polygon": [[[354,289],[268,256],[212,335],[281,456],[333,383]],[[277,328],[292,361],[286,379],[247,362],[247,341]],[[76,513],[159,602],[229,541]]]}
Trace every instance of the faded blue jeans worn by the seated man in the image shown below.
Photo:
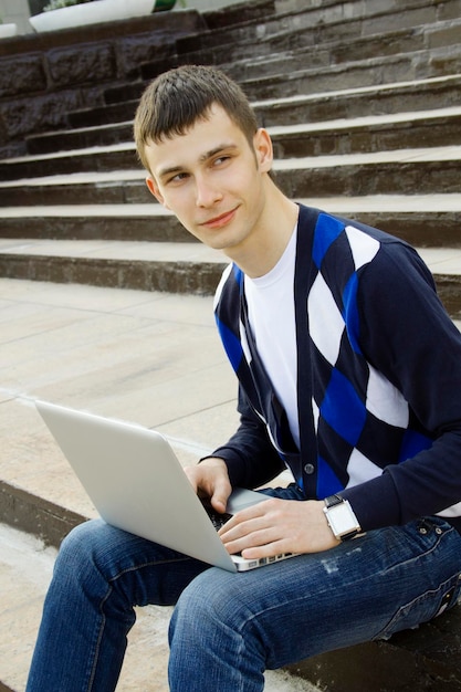
{"label": "faded blue jeans worn by the seated man", "polygon": [[430,620],[457,602],[460,574],[461,536],[439,517],[241,574],[91,521],[62,544],[27,692],[115,690],[133,606],[147,604],[176,604],[172,692],[259,692],[265,669]]}

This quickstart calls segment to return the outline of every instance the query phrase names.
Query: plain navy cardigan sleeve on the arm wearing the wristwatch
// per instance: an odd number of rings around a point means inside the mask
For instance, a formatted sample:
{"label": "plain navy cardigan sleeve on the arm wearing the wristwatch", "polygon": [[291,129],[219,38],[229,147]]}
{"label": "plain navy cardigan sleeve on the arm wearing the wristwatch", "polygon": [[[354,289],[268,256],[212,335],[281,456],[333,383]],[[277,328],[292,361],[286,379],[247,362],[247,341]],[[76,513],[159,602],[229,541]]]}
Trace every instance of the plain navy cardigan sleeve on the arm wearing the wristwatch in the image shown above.
{"label": "plain navy cardigan sleeve on the arm wearing the wristwatch", "polygon": [[[410,247],[385,242],[364,270],[359,344],[433,440],[380,476],[342,492],[364,530],[405,524],[461,501],[461,335]],[[461,514],[461,511],[460,511]]]}

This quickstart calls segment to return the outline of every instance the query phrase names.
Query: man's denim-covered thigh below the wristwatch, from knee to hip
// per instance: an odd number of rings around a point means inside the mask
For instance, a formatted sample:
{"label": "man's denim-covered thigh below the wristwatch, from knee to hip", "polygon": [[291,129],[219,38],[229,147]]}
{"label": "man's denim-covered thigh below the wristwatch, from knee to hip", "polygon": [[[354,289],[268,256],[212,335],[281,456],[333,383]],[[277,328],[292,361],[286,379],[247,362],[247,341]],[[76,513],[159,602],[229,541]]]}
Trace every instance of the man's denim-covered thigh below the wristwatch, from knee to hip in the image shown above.
{"label": "man's denim-covered thigh below the wristwatch, from knee to hip", "polygon": [[460,573],[461,536],[431,517],[250,573],[207,570],[182,598],[258,638],[280,668],[430,620],[454,605]]}

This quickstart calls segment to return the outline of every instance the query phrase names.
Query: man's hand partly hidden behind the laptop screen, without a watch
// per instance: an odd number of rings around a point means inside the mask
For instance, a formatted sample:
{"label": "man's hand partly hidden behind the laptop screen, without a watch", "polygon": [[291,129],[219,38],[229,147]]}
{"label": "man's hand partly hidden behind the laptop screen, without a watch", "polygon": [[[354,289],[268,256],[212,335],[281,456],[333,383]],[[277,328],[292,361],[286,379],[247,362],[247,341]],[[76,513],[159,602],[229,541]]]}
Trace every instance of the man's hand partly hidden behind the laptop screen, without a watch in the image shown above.
{"label": "man's hand partly hidden behind the laptop screen, without a watch", "polygon": [[222,459],[210,457],[197,466],[186,466],[185,471],[196,493],[209,497],[217,512],[226,512],[232,486]]}

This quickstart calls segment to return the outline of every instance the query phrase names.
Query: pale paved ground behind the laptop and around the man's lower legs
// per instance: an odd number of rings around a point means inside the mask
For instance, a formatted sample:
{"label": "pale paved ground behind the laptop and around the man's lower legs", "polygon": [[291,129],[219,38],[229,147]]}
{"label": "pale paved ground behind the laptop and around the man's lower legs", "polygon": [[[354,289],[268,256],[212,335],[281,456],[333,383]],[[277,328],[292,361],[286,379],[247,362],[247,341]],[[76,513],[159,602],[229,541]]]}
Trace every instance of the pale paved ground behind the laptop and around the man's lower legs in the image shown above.
{"label": "pale paved ground behind the laptop and around the man's lower legs", "polygon": [[[0,479],[94,516],[38,416],[42,398],[155,427],[188,463],[233,431],[211,298],[0,280]],[[55,552],[0,525],[0,688],[22,692]],[[168,609],[147,608],[119,691],[167,692]],[[269,692],[313,688],[269,673]]]}

